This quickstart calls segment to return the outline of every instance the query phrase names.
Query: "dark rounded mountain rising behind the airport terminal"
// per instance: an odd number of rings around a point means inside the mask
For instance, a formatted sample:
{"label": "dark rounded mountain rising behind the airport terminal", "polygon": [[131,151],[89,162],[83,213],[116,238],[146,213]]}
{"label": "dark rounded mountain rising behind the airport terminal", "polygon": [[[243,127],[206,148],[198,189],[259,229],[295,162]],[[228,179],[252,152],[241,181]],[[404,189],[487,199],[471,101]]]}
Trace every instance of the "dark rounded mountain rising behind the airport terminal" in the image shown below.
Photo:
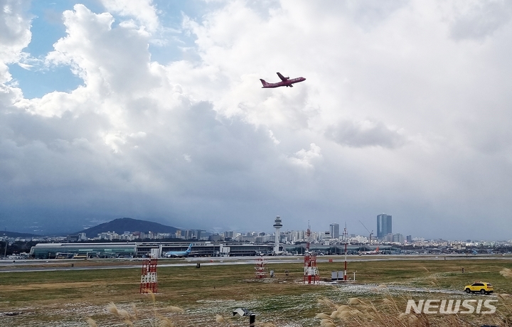
{"label": "dark rounded mountain rising behind the airport terminal", "polygon": [[[177,229],[178,228],[176,227],[153,223],[146,220],[118,218],[108,223],[102,223],[100,225],[87,228],[86,230],[80,230],[80,232],[85,232],[87,237],[96,237],[102,232],[117,232],[117,234],[122,234],[123,232],[169,232],[174,234]],[[78,234],[80,232],[75,232],[73,234]]]}

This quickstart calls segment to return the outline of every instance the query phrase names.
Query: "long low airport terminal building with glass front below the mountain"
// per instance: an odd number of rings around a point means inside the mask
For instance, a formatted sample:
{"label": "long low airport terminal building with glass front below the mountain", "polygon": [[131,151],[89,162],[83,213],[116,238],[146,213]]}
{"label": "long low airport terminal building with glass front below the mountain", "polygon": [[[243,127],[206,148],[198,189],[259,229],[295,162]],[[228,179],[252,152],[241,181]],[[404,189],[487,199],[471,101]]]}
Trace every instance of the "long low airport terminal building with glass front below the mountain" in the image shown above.
{"label": "long low airport terminal building with glass front below the mountain", "polygon": [[[190,257],[240,257],[272,254],[274,245],[238,242],[193,242]],[[165,252],[185,251],[190,242],[38,243],[31,248],[34,259],[162,257]]]}

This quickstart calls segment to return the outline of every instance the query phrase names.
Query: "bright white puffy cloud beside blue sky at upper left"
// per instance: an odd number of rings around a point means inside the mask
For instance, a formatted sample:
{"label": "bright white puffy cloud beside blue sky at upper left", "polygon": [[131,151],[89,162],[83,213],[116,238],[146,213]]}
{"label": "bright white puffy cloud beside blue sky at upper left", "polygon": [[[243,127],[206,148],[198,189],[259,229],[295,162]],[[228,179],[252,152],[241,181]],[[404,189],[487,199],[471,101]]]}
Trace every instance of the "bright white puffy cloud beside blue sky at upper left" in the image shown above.
{"label": "bright white puffy cloud beside blue sky at upper left", "polygon": [[110,14],[94,14],[82,4],[63,16],[68,36],[55,43],[48,62],[71,65],[87,88],[100,94],[137,96],[159,83],[149,70],[145,33],[131,26],[112,28]]}

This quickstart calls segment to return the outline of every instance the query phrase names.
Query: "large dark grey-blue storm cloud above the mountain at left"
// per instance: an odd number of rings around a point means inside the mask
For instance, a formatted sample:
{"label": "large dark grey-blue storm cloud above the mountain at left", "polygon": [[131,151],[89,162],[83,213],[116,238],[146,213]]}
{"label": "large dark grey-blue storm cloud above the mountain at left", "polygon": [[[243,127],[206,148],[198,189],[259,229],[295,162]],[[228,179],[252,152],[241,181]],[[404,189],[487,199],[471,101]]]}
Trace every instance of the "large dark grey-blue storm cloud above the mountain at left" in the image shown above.
{"label": "large dark grey-blue storm cloud above the mountain at left", "polygon": [[[4,218],[16,217],[10,230],[26,230],[32,220],[45,220],[44,213],[67,222],[59,231],[116,214],[181,225],[188,218],[194,220],[188,225],[201,227],[208,210],[186,208],[220,206],[221,216],[230,210],[220,205],[225,198],[239,211],[243,205],[236,203],[265,194],[267,185],[251,174],[264,173],[262,163],[272,156],[267,132],[217,119],[208,103],[164,112],[165,124],[122,138],[117,151],[97,135],[107,127],[101,117],[68,116],[2,114],[0,208]],[[90,208],[97,213],[87,214]]]}

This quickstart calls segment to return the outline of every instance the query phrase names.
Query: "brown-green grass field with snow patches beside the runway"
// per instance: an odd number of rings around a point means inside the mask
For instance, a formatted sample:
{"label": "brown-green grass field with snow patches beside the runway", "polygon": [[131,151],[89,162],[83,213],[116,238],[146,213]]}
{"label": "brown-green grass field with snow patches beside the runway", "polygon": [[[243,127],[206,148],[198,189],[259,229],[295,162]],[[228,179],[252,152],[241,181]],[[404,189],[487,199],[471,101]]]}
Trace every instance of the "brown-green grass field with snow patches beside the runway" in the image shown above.
{"label": "brown-green grass field with snow patches beside the runway", "polygon": [[[87,264],[91,261],[76,262],[75,267]],[[512,306],[506,297],[435,291],[462,291],[464,285],[483,280],[494,284],[495,294],[512,294],[512,279],[500,274],[503,269],[512,268],[512,260],[349,262],[348,276],[353,277],[356,272],[356,282],[346,284],[330,283],[331,271],[342,270],[342,262],[319,262],[318,267],[323,281],[319,285],[302,283],[303,264],[299,260],[297,263],[270,263],[268,269],[275,272],[272,279],[255,279],[252,264],[202,264],[200,269],[195,266],[159,267],[159,291],[153,296],[139,294],[140,268],[2,272],[0,312],[15,316],[0,315],[0,326],[91,326],[87,317],[97,326],[248,326],[248,318],[232,316],[233,309],[238,307],[257,313],[257,326],[263,323],[267,326],[321,326],[321,323],[329,326],[327,319],[322,322],[317,313],[331,313],[353,298],[386,314],[395,311],[395,316],[405,311],[407,299],[492,298],[500,301],[496,314],[466,315],[457,318],[458,325],[447,325],[444,317],[432,317],[430,326],[492,325],[510,318]],[[284,274],[286,269],[289,276]],[[358,287],[352,286],[354,284]],[[417,290],[401,290],[403,286]],[[110,303],[116,308],[108,309]],[[177,312],[175,307],[183,312]],[[332,326],[352,326],[342,324],[342,320],[331,321]],[[352,321],[357,322],[357,317]]]}

